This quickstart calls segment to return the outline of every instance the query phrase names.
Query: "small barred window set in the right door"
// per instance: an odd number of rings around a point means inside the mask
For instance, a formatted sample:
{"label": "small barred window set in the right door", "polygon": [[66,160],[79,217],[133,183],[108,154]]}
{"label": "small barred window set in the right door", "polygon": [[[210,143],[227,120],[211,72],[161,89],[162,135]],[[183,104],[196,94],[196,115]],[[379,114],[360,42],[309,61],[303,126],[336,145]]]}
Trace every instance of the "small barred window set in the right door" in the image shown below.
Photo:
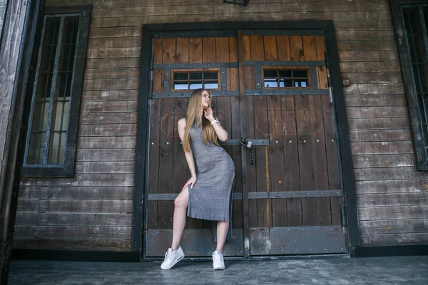
{"label": "small barred window set in the right door", "polygon": [[263,88],[308,88],[309,68],[263,68]]}

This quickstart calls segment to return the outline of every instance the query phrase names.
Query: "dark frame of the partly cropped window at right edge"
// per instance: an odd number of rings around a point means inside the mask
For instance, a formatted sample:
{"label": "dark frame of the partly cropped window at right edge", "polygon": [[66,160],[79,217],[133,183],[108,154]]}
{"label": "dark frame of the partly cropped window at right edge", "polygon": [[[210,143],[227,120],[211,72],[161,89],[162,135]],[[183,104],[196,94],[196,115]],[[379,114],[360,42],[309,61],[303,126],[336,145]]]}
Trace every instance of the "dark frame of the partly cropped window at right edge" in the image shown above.
{"label": "dark frame of the partly cropped window at right edge", "polygon": [[[402,6],[427,5],[428,7],[428,4],[426,4],[426,2],[424,3],[422,0],[390,0],[390,3],[392,19],[394,21],[395,36],[397,39],[399,57],[402,66],[402,75],[404,78],[404,90],[407,97],[407,108],[409,111],[410,127],[412,130],[416,166],[418,171],[427,171],[428,152],[426,147],[428,147],[428,145],[425,145],[424,130],[422,129],[424,128],[422,125],[422,114],[420,113],[417,88],[414,82],[412,59],[410,58],[409,44],[407,43],[407,31],[404,26]],[[422,28],[424,27],[422,26]],[[426,46],[426,48],[428,50],[428,46]]]}

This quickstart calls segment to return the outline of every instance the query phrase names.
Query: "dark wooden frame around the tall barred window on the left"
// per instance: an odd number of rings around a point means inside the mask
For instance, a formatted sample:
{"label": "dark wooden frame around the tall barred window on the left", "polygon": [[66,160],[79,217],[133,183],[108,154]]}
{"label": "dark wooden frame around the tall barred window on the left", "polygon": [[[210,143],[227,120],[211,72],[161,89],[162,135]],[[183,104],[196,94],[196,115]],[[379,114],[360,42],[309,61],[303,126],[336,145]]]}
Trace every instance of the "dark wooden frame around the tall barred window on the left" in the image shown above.
{"label": "dark wooden frame around the tall barred window on the left", "polygon": [[[34,80],[34,86],[29,86],[31,88],[31,113],[29,116],[29,127],[28,133],[26,134],[26,147],[24,161],[21,170],[22,177],[73,177],[74,176],[74,164],[76,157],[76,142],[77,142],[77,130],[78,130],[78,115],[80,112],[81,105],[81,93],[83,88],[83,72],[85,68],[86,60],[86,46],[88,42],[88,31],[89,24],[91,21],[91,11],[92,6],[60,6],[60,7],[46,7],[44,14],[44,24],[48,17],[63,14],[80,14],[79,24],[78,24],[78,36],[76,40],[76,52],[75,52],[75,61],[73,67],[73,79],[71,84],[71,93],[70,93],[70,113],[68,119],[68,127],[66,132],[66,145],[64,160],[61,164],[47,164],[47,165],[31,165],[27,164],[26,160],[28,157],[28,149],[30,143],[30,136],[32,130],[32,121],[33,121],[33,112],[34,112],[34,98],[36,93],[34,92],[34,87],[37,82]],[[39,31],[39,33],[44,33]],[[41,34],[41,37],[44,36]],[[43,50],[43,39],[40,42],[39,48],[35,48],[32,56],[39,58],[39,53]],[[39,60],[37,66],[39,66]],[[34,73],[34,78],[39,76]],[[54,114],[53,114],[54,115]]]}

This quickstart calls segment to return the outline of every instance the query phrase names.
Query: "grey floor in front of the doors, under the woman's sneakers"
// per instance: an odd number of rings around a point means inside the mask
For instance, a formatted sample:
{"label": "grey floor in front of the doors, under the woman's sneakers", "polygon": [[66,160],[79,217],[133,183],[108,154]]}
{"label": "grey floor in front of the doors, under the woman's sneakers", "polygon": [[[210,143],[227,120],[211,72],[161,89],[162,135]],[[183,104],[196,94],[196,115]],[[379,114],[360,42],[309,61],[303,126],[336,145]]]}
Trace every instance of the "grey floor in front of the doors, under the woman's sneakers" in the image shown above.
{"label": "grey floor in front of the doors, under the woman's sneakers", "polygon": [[360,259],[110,263],[13,260],[9,285],[25,284],[428,284],[428,256]]}

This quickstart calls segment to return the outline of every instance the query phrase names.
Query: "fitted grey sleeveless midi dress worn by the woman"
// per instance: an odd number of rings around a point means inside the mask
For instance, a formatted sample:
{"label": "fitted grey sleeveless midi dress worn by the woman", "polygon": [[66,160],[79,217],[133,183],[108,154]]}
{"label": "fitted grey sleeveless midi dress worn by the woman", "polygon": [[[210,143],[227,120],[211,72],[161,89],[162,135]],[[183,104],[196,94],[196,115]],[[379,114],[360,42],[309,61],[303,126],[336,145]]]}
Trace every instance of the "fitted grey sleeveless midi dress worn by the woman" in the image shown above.
{"label": "fitted grey sleeveless midi dress worn by the woman", "polygon": [[223,147],[205,145],[202,126],[190,129],[190,145],[195,160],[196,182],[189,185],[188,216],[211,221],[228,221],[230,192],[235,165]]}

